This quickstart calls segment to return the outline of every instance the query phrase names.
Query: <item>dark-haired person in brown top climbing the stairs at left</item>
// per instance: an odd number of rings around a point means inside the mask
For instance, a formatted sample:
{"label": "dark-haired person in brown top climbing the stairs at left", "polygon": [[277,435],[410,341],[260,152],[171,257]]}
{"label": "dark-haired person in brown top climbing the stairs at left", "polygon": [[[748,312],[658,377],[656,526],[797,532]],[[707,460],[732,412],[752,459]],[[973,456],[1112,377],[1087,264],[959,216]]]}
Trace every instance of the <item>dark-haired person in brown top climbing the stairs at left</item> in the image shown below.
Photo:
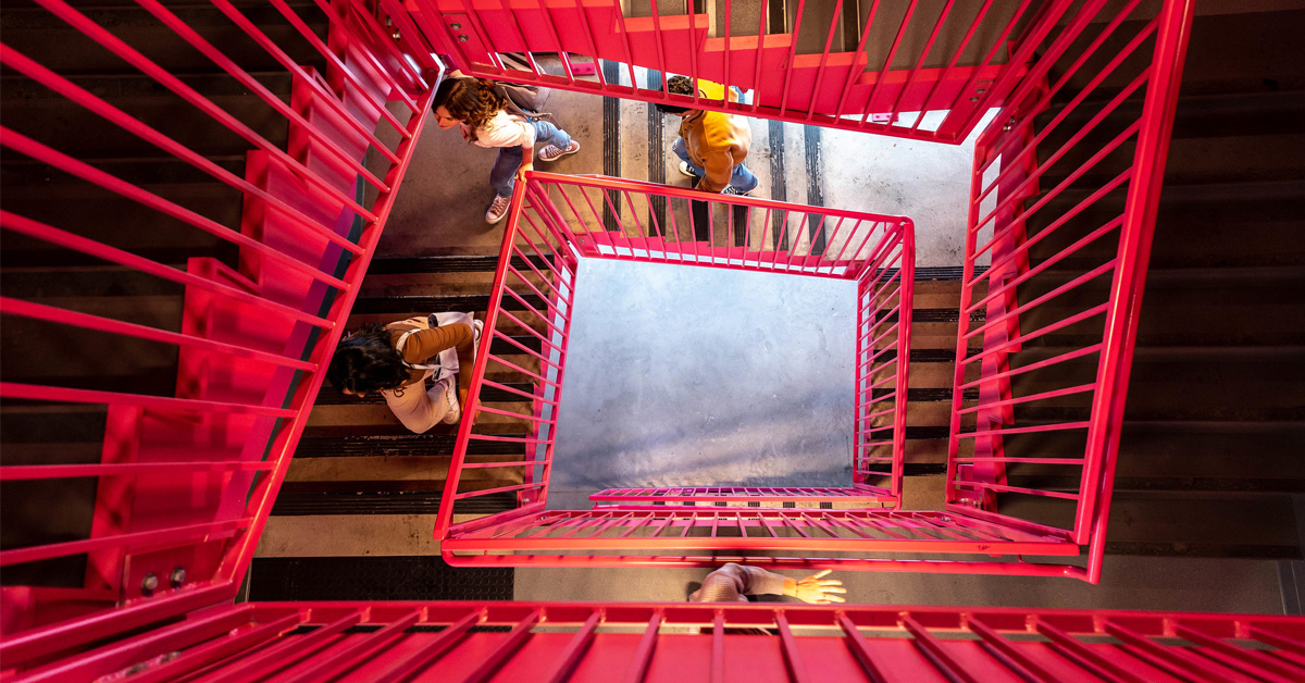
{"label": "dark-haired person in brown top climbing the stairs at left", "polygon": [[[405,427],[422,434],[462,417],[466,381],[482,323],[471,313],[435,313],[388,325],[367,325],[341,340],[326,379],[342,393],[364,397],[378,392]],[[427,389],[427,380],[433,380]]]}

